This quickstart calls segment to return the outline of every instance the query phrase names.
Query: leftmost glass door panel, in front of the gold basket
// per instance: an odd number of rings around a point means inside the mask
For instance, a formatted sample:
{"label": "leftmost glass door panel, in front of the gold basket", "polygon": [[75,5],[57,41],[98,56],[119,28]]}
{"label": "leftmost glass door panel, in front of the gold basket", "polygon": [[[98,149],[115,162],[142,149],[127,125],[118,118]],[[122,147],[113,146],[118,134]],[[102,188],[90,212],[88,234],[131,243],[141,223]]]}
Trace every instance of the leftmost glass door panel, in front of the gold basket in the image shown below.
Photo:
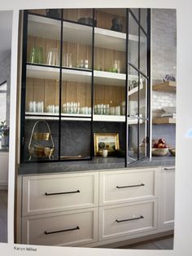
{"label": "leftmost glass door panel, in front of the gold basket", "polygon": [[28,25],[24,28],[21,157],[57,160],[61,22],[32,13],[25,13],[24,20]]}

